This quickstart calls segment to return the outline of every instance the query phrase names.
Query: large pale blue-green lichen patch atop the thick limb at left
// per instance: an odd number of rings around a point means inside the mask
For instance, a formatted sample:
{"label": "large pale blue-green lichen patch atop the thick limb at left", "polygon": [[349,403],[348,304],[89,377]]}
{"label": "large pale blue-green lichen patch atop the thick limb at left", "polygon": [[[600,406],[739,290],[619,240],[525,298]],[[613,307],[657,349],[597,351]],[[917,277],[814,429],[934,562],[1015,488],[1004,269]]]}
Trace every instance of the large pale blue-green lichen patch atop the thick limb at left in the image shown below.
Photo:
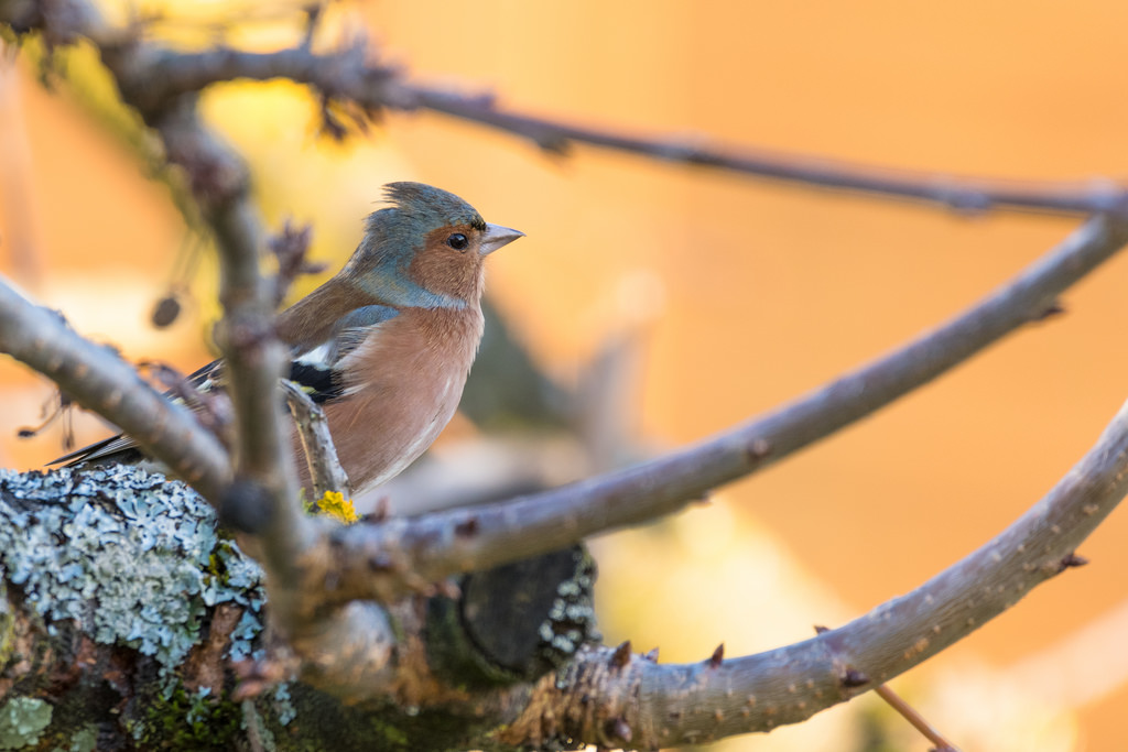
{"label": "large pale blue-green lichen patch atop the thick limb at left", "polygon": [[[30,503],[23,503],[26,499]],[[134,647],[171,672],[209,607],[245,607],[232,657],[261,631],[262,570],[215,532],[212,508],[136,468],[0,470],[0,569],[49,622]]]}

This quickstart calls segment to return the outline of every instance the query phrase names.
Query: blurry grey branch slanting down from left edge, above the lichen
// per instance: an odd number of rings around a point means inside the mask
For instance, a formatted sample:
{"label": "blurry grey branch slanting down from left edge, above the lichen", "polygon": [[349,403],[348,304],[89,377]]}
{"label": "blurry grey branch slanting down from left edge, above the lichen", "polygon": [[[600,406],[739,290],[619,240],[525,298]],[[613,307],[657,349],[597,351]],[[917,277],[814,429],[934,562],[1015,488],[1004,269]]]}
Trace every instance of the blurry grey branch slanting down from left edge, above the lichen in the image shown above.
{"label": "blurry grey branch slanting down from left edge, above the lichen", "polygon": [[0,351],[112,421],[151,457],[218,505],[231,477],[227,450],[192,414],[165,399],[109,347],[35,306],[0,280]]}

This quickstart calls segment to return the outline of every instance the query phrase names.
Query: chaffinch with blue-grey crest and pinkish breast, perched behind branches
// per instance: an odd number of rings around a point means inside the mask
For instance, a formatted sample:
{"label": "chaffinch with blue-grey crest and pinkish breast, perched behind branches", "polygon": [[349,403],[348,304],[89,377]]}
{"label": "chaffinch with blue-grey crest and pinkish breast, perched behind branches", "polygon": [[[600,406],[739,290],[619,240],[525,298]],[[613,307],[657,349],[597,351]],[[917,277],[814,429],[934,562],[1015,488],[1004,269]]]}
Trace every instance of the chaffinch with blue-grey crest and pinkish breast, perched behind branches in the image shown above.
{"label": "chaffinch with blue-grey crest and pinkish breast, perched behind branches", "polygon": [[[403,471],[453,417],[484,329],[484,260],[525,237],[430,185],[389,183],[384,195],[387,206],[369,214],[341,271],[276,320],[290,348],[288,378],[325,412],[355,493]],[[187,381],[222,388],[222,365]],[[302,451],[296,434],[293,445]],[[120,434],[52,465],[142,459]],[[308,463],[299,457],[296,466],[308,492]]]}

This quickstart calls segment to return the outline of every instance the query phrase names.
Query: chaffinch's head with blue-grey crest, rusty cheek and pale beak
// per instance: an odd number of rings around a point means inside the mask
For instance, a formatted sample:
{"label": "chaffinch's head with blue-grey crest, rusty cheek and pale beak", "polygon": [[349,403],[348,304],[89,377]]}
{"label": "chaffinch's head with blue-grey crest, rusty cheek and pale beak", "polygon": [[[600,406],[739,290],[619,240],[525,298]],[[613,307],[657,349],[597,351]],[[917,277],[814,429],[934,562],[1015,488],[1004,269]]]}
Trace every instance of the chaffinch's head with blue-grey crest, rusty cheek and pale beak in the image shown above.
{"label": "chaffinch's head with blue-grey crest, rusty cheek and pale beak", "polygon": [[342,273],[391,304],[476,304],[485,257],[525,235],[487,223],[455,194],[422,183],[384,191],[389,205],[369,215]]}

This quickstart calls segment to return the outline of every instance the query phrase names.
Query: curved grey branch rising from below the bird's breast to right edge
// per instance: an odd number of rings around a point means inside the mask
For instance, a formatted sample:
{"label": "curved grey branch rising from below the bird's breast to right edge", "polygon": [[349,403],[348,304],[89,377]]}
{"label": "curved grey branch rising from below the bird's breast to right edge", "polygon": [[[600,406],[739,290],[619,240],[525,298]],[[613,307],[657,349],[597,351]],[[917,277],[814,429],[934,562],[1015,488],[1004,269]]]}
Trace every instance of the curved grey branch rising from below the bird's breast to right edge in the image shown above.
{"label": "curved grey branch rising from below the bird's breast to right edge", "polygon": [[[394,600],[403,573],[435,582],[553,551],[646,522],[756,472],[927,383],[1023,324],[1128,242],[1128,223],[1095,216],[963,315],[867,366],[726,433],[571,486],[474,508],[355,525],[335,533],[340,590],[329,599]],[[377,566],[379,564],[379,566]]]}

